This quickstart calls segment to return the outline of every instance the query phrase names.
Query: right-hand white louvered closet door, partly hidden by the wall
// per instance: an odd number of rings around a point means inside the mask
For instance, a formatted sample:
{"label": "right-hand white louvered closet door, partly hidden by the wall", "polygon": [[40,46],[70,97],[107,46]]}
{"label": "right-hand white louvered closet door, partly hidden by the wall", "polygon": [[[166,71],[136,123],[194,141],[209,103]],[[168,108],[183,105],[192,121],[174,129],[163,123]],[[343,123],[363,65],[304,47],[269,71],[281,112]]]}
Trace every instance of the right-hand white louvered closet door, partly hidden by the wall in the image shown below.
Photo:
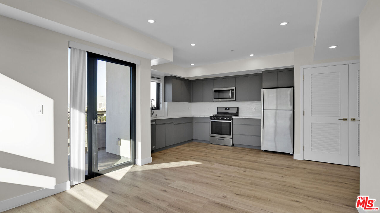
{"label": "right-hand white louvered closet door, partly hidden by the wall", "polygon": [[[360,165],[360,67],[359,64],[348,65],[348,93],[349,93],[349,154],[350,166]],[[356,121],[351,121],[355,118]]]}

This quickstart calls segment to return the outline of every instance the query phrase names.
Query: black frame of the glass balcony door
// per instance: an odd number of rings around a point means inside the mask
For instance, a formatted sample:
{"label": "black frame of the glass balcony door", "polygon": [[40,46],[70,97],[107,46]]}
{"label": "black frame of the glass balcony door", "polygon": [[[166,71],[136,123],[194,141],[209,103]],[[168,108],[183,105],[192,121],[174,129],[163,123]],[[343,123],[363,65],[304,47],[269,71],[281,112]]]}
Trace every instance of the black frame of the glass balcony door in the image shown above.
{"label": "black frame of the glass balcony door", "polygon": [[[98,60],[130,67],[131,160],[125,163],[101,169],[100,171],[98,170],[98,146],[95,127],[97,124],[98,114]],[[86,175],[86,180],[136,163],[136,64],[99,55],[96,53],[87,52],[87,150],[88,175]]]}

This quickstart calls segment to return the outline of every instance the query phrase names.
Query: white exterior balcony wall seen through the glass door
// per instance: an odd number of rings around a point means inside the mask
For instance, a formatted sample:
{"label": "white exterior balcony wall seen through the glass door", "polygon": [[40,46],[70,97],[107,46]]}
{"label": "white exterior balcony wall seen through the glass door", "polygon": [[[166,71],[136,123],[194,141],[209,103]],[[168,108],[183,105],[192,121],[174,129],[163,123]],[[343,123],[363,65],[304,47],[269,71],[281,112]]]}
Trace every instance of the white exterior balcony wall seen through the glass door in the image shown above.
{"label": "white exterior balcony wall seen through the glass door", "polygon": [[106,79],[99,80],[106,81],[106,152],[130,158],[130,67],[107,62]]}

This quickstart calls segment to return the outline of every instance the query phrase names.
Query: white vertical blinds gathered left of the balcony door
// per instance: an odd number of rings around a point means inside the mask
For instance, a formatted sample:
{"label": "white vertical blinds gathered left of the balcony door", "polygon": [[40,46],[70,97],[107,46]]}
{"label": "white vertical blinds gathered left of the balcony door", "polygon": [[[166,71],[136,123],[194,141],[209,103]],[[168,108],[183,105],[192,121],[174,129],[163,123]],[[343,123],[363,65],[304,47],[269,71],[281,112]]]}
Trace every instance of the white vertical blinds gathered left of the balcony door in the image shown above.
{"label": "white vertical blinds gathered left of the balcony door", "polygon": [[70,183],[85,180],[86,51],[70,50]]}

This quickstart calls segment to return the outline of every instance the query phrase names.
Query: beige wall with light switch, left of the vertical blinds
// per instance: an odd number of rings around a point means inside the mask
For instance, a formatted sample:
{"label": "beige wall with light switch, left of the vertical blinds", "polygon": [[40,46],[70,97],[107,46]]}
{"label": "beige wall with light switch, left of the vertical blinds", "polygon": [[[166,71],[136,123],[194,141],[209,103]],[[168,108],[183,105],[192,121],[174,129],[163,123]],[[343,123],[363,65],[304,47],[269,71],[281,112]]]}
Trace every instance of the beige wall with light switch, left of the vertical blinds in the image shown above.
{"label": "beige wall with light switch, left of the vertical blinds", "polygon": [[[0,72],[9,77],[1,78],[0,111],[8,115],[0,147],[12,147],[1,149],[0,168],[67,182],[68,38],[3,16],[0,28]],[[43,114],[35,114],[37,104]],[[0,201],[41,189],[30,185],[0,182]]]}

